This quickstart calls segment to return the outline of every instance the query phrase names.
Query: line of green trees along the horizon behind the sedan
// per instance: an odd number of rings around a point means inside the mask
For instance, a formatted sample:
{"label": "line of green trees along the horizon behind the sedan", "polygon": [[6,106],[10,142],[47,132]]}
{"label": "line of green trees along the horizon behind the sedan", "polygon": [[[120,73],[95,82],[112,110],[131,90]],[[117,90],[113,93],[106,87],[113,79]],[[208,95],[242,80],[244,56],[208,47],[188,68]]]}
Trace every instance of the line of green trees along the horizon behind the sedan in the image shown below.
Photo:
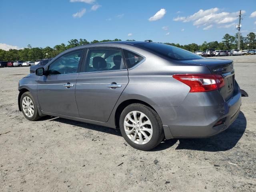
{"label": "line of green trees along the horizon behind the sedan", "polygon": [[[237,42],[238,42],[238,33],[235,34],[235,36],[232,36],[230,34],[225,34],[222,38],[222,42],[213,41],[213,42],[204,42],[201,45],[198,45],[196,43],[188,44],[188,45],[180,45],[175,43],[165,43],[168,45],[176,46],[191,52],[195,52],[198,50],[205,51],[209,48],[214,48],[215,50],[231,50],[237,48]],[[99,43],[99,42],[111,42],[111,41],[121,41],[120,39],[114,39],[114,40],[93,40],[92,42],[88,42],[86,39],[71,39],[68,41],[68,44],[60,44],[56,45],[53,48],[50,46],[47,46],[45,48],[41,47],[35,47],[32,48],[30,44],[26,48],[16,50],[16,49],[10,49],[8,51],[0,49],[0,60],[2,61],[14,61],[14,60],[23,60],[23,61],[35,61],[42,58],[52,58],[58,55],[59,53],[76,46],[80,45],[86,45],[86,44],[93,44],[93,43]],[[128,41],[134,41],[134,40],[128,40]],[[151,40],[150,40],[151,41]],[[250,44],[248,47],[247,44]],[[246,37],[240,36],[240,49],[255,49],[256,48],[256,34],[253,32],[250,32],[247,34]],[[47,54],[46,54],[47,53]]]}

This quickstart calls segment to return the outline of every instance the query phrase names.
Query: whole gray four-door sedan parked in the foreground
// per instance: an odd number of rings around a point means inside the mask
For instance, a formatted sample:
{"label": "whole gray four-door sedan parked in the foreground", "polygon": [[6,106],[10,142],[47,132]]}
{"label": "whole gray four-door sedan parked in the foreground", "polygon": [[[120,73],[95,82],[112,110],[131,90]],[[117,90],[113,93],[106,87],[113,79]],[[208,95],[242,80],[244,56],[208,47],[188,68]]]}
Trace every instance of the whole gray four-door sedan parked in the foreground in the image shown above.
{"label": "whole gray four-door sedan parked in the foreground", "polygon": [[209,137],[236,120],[240,88],[231,60],[202,58],[154,42],[71,48],[19,81],[18,107],[120,129],[132,147],[163,139]]}

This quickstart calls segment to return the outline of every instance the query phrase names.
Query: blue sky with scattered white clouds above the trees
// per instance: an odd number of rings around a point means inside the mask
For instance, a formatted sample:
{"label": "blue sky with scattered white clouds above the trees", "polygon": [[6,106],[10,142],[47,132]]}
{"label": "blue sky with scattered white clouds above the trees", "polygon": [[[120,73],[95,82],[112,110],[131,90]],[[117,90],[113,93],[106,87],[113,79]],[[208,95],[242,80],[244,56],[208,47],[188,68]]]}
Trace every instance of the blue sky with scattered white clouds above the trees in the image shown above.
{"label": "blue sky with scattered white clouds above the trees", "polygon": [[[256,0],[0,0],[0,48],[53,47],[70,39],[179,44],[256,33]],[[224,3],[225,2],[225,3]]]}

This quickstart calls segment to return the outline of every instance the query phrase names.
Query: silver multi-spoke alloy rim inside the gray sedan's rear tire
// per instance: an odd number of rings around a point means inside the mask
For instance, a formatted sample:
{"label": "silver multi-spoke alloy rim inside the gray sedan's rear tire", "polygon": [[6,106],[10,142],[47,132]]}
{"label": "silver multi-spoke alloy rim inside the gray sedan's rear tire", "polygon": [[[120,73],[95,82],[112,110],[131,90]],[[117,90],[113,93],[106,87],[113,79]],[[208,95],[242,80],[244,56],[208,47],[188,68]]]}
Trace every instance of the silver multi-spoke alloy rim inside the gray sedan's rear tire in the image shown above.
{"label": "silver multi-spoke alloy rim inside the gray sedan's rear tire", "polygon": [[124,118],[124,130],[128,138],[136,144],[146,144],[153,134],[149,118],[142,112],[129,112]]}

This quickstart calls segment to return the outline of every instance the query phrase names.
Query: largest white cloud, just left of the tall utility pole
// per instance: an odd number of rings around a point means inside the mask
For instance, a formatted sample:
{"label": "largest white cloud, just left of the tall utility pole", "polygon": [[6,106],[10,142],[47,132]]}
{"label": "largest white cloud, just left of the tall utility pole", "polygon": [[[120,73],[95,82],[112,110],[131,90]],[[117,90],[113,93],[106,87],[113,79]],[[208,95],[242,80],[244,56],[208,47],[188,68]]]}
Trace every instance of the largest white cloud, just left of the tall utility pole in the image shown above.
{"label": "largest white cloud, just left of the tall utility pole", "polygon": [[[245,11],[242,10],[242,14]],[[198,12],[190,15],[190,16],[178,16],[173,18],[174,21],[182,21],[182,22],[193,22],[193,25],[197,28],[200,26],[207,26],[205,27],[208,29],[208,26],[216,24],[225,24],[231,23],[237,20],[239,12],[220,12],[219,8],[210,8],[208,10],[200,9]]]}

